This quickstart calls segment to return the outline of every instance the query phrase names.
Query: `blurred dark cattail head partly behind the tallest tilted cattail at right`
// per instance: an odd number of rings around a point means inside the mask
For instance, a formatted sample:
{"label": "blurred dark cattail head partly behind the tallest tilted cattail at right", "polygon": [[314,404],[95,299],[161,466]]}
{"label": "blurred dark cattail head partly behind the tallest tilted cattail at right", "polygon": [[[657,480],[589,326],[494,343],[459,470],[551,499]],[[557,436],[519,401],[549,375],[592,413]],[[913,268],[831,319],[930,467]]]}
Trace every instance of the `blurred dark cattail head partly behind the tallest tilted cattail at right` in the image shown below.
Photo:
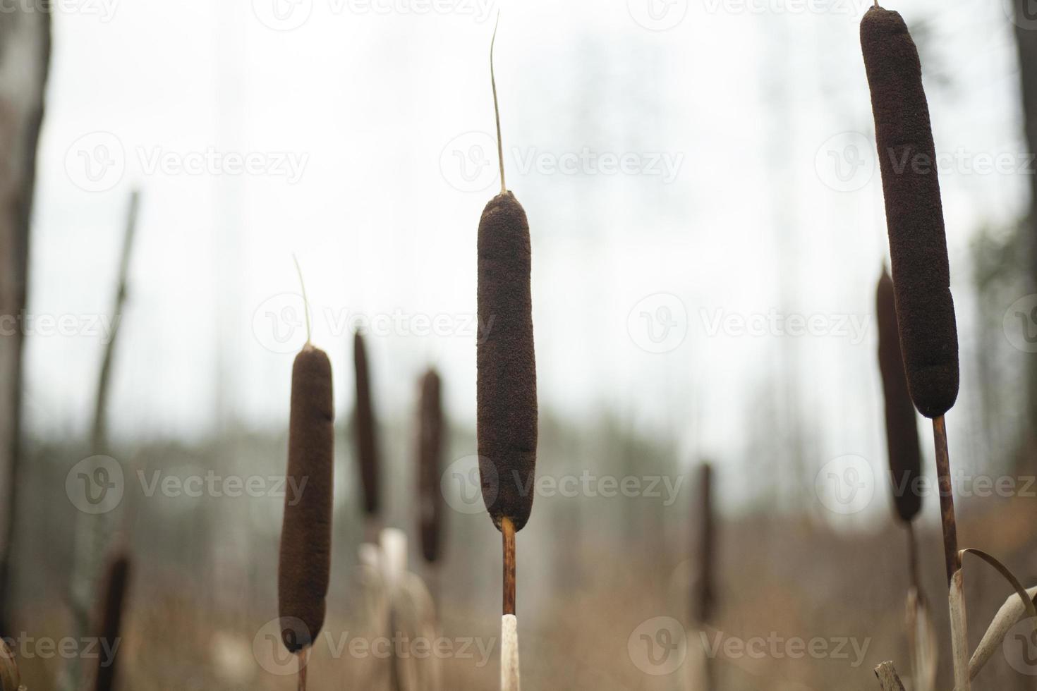
{"label": "blurred dark cattail head partly behind the tallest tilted cattail at right", "polygon": [[916,486],[922,471],[922,455],[915,406],[907,392],[900,354],[893,279],[885,269],[875,292],[875,316],[878,322],[878,369],[886,398],[886,448],[893,481],[893,502],[900,520],[907,522],[922,508],[922,495]]}

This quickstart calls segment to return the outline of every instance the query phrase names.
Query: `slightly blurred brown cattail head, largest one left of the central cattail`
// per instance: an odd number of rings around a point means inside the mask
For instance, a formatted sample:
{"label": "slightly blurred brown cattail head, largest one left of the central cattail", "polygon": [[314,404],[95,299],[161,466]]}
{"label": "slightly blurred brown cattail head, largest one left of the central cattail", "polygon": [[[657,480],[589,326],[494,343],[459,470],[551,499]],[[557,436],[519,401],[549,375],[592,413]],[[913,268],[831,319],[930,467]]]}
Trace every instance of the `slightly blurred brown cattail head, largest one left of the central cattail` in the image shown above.
{"label": "slightly blurred brown cattail head, largest one left of the central cattail", "polygon": [[[307,344],[291,368],[288,487],[277,567],[281,640],[291,653],[316,639],[331,571],[335,408],[331,363]],[[304,484],[305,483],[305,484]]]}

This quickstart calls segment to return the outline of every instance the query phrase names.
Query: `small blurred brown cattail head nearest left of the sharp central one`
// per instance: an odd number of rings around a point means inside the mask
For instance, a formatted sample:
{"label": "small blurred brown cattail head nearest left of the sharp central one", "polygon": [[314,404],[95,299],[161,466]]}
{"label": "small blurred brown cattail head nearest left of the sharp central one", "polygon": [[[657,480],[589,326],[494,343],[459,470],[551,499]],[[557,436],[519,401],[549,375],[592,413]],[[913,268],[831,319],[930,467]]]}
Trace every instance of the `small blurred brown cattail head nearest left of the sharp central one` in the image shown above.
{"label": "small blurred brown cattail head nearest left of the sharp central one", "polygon": [[443,403],[440,375],[429,370],[421,379],[421,409],[418,413],[418,531],[425,560],[440,558],[443,534]]}

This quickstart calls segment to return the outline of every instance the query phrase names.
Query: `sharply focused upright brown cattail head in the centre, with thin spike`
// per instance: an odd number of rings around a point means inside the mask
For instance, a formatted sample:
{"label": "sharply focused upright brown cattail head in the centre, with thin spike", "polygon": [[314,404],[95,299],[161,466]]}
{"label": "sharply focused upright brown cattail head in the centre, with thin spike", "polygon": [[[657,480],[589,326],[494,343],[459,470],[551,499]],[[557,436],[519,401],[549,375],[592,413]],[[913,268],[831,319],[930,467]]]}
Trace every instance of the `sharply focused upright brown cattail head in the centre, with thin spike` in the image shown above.
{"label": "sharply focused upright brown cattail head in the centre, with thin spike", "polygon": [[488,329],[476,348],[477,435],[482,498],[494,524],[521,530],[533,509],[536,471],[536,361],[526,211],[510,192],[479,220],[478,312]]}

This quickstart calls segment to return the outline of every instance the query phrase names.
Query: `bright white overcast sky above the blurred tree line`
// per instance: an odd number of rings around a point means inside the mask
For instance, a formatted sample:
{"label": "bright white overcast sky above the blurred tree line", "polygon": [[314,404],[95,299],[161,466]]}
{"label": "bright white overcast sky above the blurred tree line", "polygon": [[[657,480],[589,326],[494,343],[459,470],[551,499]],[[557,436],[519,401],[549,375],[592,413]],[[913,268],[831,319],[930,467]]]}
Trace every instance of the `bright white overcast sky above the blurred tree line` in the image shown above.
{"label": "bright white overcast sky above the blurred tree line", "polygon": [[[457,11],[424,15],[399,1],[380,13],[303,0],[297,12],[309,7],[308,21],[276,31],[259,20],[273,1],[121,0],[107,22],[89,13],[100,4],[55,18],[30,311],[111,310],[122,217],[139,184],[115,434],[195,437],[218,419],[286,423],[291,354],[267,349],[253,317],[272,296],[298,291],[291,253],[305,272],[314,341],[333,362],[340,418],[352,406],[351,336],[323,310],[475,313],[476,229],[497,182],[455,189],[451,154],[459,135],[494,131],[486,58],[500,7],[506,174],[532,227],[541,407],[573,420],[615,410],[675,437],[682,460],[707,455],[740,468],[746,429],[766,412],[760,397],[767,385],[784,397],[792,377],[816,444],[811,459],[860,454],[882,467],[874,329],[861,343],[709,336],[701,312],[871,324],[887,247],[878,172],[841,192],[825,184],[823,165],[833,137],[842,136],[840,151],[854,141],[845,133],[872,138],[858,38],[866,3],[791,12],[782,0],[754,0],[755,11],[734,0],[676,0],[664,21],[686,16],[651,31],[635,21],[648,0],[457,0]],[[1012,25],[1000,0],[890,6],[927,25],[922,59],[937,150],[1021,155]],[[81,139],[97,132],[110,135]],[[79,151],[111,136],[124,174],[110,189],[81,189]],[[474,137],[461,140],[461,153],[483,141]],[[156,147],[174,157],[213,148],[306,159],[295,182],[149,173],[142,159]],[[682,159],[669,182],[521,170],[531,152],[557,159],[585,147]],[[871,148],[862,155],[874,164]],[[959,170],[941,180],[968,349],[970,238],[1020,213],[1027,178]],[[688,314],[677,326],[686,338],[662,354],[639,347],[644,335],[632,338],[627,324],[655,293],[678,296]],[[416,377],[436,362],[451,416],[474,424],[474,336],[394,334],[369,345],[383,414],[409,413]],[[32,429],[88,427],[102,347],[96,336],[30,333]],[[964,425],[971,365],[963,353],[962,404],[951,413],[956,463],[965,465],[975,460]]]}

